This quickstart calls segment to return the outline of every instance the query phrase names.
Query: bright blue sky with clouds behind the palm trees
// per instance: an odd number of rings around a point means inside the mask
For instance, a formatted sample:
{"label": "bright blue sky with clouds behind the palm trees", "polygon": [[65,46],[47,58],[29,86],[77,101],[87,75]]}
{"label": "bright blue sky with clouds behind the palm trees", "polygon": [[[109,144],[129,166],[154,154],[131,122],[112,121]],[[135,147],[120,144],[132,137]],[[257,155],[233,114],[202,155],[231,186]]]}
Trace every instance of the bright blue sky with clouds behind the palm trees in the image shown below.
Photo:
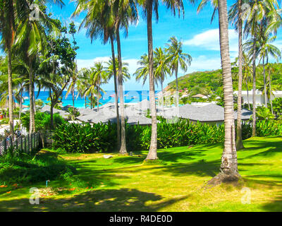
{"label": "bright blue sky with clouds behind the palm trees", "polygon": [[[161,1],[160,1],[161,2]],[[234,1],[228,1],[228,6],[231,6]],[[48,11],[54,14],[54,17],[59,18],[63,23],[71,23],[80,25],[80,22],[85,16],[82,13],[80,16],[72,18],[71,14],[75,11],[75,2],[64,0],[66,4],[63,8],[55,5],[48,7]],[[192,5],[188,1],[184,1],[185,16],[178,18],[174,17],[169,9],[159,5],[159,20],[153,20],[153,47],[166,47],[166,43],[170,37],[175,36],[183,42],[183,52],[188,53],[192,57],[192,63],[188,67],[188,71],[179,71],[178,76],[183,76],[186,73],[193,71],[209,71],[221,68],[221,59],[219,52],[219,22],[218,16],[211,23],[213,8],[207,6],[197,13],[197,4]],[[128,69],[132,78],[124,83],[124,90],[149,90],[149,82],[145,85],[137,83],[133,73],[139,67],[137,61],[140,60],[142,54],[147,53],[147,24],[140,13],[140,20],[137,25],[130,25],[128,37],[125,37],[124,32],[121,35],[121,54],[123,61],[129,64]],[[77,62],[78,68],[89,68],[96,61],[108,61],[111,57],[111,45],[102,44],[101,40],[93,40],[85,35],[85,29],[81,29],[75,36],[78,42]],[[233,27],[229,27],[229,44],[231,61],[234,61],[238,56],[238,34]],[[281,49],[282,39],[276,40],[276,46]],[[175,76],[167,78],[164,82],[164,87],[175,80]],[[109,81],[103,85],[104,90],[114,90],[114,81]],[[160,90],[156,87],[156,90]]]}

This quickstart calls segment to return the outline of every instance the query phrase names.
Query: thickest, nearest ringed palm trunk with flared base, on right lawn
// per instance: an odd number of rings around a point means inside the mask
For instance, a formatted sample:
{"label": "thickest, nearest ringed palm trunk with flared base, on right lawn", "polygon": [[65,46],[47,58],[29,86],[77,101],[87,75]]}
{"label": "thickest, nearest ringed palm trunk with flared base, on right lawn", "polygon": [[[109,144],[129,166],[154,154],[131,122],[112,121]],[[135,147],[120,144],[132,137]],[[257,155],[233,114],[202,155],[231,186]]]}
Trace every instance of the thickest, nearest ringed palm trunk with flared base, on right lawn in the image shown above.
{"label": "thickest, nearest ringed palm trunk with flared base, on right lawn", "polygon": [[221,157],[221,172],[209,181],[209,184],[237,181],[238,174],[237,152],[235,145],[235,126],[233,114],[233,86],[231,75],[231,60],[228,42],[228,19],[226,0],[219,1],[219,40],[221,49],[221,67],[223,73],[224,93],[224,150]]}

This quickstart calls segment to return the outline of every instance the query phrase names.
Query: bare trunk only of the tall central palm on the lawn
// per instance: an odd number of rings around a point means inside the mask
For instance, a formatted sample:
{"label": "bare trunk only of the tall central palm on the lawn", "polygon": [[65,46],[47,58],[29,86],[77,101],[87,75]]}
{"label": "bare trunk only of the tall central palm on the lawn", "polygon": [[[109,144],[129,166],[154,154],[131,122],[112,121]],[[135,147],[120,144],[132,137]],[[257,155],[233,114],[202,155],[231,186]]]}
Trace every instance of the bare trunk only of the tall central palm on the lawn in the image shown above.
{"label": "bare trunk only of the tall central palm on the lawn", "polygon": [[152,37],[152,0],[147,2],[147,40],[148,40],[148,59],[149,59],[149,102],[152,115],[152,133],[149,153],[146,160],[157,160],[157,110],[156,97],[154,91],[154,56],[153,56],[153,37]]}

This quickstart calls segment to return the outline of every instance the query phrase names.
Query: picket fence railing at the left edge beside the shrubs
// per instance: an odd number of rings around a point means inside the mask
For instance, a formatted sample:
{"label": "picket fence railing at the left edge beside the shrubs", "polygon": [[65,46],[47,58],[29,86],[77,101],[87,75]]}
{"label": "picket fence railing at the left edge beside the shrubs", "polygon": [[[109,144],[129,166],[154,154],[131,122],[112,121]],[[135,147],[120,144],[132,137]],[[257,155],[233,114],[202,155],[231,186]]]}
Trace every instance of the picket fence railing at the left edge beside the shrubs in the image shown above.
{"label": "picket fence railing at the left edge beside the shrubs", "polygon": [[[39,148],[39,133],[31,133],[27,136],[19,136],[12,141],[11,136],[0,141],[0,155],[4,155],[8,149],[20,150],[21,152],[31,153]],[[10,149],[11,150],[11,149]]]}

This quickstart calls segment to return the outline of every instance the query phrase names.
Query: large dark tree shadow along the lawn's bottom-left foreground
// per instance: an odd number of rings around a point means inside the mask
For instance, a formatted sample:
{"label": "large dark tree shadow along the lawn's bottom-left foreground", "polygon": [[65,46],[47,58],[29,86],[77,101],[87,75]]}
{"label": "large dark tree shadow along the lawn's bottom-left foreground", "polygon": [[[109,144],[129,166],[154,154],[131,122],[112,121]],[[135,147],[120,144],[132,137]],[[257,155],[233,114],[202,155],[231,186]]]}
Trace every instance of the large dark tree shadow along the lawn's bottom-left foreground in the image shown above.
{"label": "large dark tree shadow along the lawn's bottom-left foreground", "polygon": [[[137,189],[103,189],[71,198],[40,198],[39,205],[31,205],[28,198],[0,201],[0,211],[157,211],[187,197],[161,201],[164,197]],[[146,205],[148,201],[157,203]]]}

